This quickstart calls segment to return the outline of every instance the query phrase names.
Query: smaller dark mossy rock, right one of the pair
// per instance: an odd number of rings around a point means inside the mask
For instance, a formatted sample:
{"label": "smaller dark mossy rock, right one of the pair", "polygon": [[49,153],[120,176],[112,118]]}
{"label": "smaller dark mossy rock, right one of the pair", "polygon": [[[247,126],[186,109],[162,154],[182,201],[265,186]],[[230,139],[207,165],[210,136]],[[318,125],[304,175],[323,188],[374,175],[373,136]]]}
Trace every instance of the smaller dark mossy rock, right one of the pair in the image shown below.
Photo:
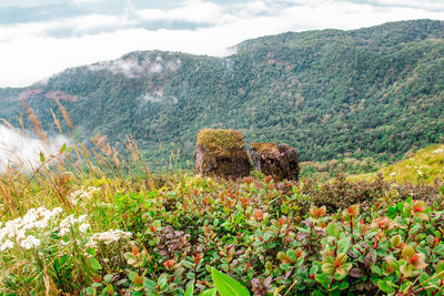
{"label": "smaller dark mossy rock, right one of the pair", "polygon": [[275,181],[299,178],[297,152],[286,144],[252,143],[250,155],[254,167]]}

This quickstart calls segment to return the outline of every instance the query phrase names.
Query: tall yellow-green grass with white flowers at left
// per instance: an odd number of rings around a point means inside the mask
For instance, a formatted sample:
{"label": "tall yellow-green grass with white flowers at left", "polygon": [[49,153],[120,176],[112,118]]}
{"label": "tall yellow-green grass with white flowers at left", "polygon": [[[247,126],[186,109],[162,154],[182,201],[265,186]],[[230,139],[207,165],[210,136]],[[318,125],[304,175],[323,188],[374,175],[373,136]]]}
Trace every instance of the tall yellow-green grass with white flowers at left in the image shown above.
{"label": "tall yellow-green grass with white flowers at left", "polygon": [[[113,206],[117,194],[144,194],[162,180],[154,181],[131,135],[125,155],[111,150],[107,139],[93,139],[94,145],[87,147],[75,140],[67,111],[58,105],[71,129],[69,143],[54,155],[42,151],[40,164],[31,170],[18,164],[27,162],[22,160],[0,174],[0,294],[56,295],[90,285],[101,268],[95,258],[117,257],[130,242],[119,232],[107,234],[122,225],[125,231]],[[24,109],[33,133],[49,146],[34,112],[26,103]],[[27,135],[23,126],[16,132]],[[101,233],[109,237],[99,237],[91,247]]]}

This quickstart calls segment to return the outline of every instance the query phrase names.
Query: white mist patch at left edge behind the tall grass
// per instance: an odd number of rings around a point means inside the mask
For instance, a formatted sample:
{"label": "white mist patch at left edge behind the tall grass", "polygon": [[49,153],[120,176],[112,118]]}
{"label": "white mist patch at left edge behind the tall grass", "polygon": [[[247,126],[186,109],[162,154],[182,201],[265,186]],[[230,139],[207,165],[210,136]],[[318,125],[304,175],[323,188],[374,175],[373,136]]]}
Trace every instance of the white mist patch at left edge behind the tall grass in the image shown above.
{"label": "white mist patch at left edge behind the tall grass", "polygon": [[58,154],[63,143],[69,141],[63,136],[50,139],[50,145],[38,139],[28,137],[0,125],[0,172],[10,167],[24,170],[36,169],[40,164],[40,152],[46,155]]}

